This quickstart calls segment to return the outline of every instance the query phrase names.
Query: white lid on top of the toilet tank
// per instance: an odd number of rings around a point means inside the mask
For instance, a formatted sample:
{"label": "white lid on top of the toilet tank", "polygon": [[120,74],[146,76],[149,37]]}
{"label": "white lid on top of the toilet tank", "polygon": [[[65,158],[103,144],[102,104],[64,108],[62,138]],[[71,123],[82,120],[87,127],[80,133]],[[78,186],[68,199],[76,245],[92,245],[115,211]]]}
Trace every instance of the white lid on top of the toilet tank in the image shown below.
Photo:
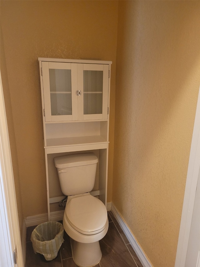
{"label": "white lid on top of the toilet tank", "polygon": [[82,153],[55,157],[54,163],[57,168],[68,168],[74,166],[83,166],[98,162],[98,157],[94,153]]}

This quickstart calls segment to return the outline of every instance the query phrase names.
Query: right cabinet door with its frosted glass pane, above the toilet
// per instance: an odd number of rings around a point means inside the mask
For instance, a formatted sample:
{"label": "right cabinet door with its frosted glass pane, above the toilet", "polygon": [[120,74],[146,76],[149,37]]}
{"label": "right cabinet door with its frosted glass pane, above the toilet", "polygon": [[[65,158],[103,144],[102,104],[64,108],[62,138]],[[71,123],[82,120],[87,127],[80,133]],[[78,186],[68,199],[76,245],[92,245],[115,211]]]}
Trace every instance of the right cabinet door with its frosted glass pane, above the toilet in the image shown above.
{"label": "right cabinet door with its frosted glass pane, above the toilet", "polygon": [[108,69],[106,64],[78,64],[82,78],[78,88],[83,90],[82,99],[78,97],[79,120],[108,118]]}

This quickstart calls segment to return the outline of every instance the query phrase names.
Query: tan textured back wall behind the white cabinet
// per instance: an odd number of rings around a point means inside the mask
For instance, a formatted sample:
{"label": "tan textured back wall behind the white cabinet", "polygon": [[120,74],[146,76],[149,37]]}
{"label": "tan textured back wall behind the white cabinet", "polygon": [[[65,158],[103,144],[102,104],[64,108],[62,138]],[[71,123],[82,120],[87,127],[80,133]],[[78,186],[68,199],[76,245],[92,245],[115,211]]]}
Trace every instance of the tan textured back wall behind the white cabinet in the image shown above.
{"label": "tan textured back wall behind the white cabinet", "polygon": [[38,57],[112,60],[108,201],[112,199],[117,1],[1,1],[24,217],[47,212]]}

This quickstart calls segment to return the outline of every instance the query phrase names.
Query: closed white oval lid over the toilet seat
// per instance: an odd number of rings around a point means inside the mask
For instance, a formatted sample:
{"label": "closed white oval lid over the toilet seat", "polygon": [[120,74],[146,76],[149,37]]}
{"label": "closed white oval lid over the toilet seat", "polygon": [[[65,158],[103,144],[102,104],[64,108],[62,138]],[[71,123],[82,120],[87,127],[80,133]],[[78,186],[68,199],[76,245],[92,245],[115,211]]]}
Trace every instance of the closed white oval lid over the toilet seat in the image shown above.
{"label": "closed white oval lid over the toilet seat", "polygon": [[103,202],[91,195],[72,198],[65,211],[69,224],[82,234],[101,232],[108,218]]}

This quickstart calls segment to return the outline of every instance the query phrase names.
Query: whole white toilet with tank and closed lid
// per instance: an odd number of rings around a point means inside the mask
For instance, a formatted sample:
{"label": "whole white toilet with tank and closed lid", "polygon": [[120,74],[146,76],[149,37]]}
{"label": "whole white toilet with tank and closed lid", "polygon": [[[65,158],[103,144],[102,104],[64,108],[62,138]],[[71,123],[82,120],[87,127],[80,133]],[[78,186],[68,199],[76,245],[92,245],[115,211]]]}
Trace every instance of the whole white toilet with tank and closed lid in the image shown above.
{"label": "whole white toilet with tank and closed lid", "polygon": [[55,157],[61,190],[68,196],[63,227],[70,237],[74,262],[95,266],[101,260],[99,240],[108,231],[107,209],[93,197],[98,158],[93,153]]}

